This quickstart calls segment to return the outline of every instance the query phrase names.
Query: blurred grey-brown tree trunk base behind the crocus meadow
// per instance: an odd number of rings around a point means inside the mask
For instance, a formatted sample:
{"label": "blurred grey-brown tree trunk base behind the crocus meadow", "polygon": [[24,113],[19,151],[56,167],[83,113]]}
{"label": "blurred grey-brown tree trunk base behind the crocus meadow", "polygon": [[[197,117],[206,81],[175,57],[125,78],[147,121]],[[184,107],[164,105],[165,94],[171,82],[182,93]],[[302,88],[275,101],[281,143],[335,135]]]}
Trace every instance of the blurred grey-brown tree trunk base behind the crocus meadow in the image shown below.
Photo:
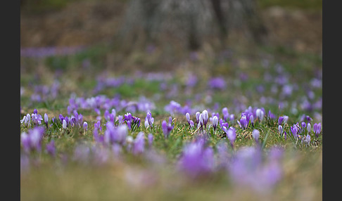
{"label": "blurred grey-brown tree trunk base behind the crocus meadow", "polygon": [[247,33],[241,37],[265,41],[267,30],[255,0],[131,0],[122,37],[133,43],[178,40],[196,51],[210,39],[225,44],[229,33],[241,29]]}

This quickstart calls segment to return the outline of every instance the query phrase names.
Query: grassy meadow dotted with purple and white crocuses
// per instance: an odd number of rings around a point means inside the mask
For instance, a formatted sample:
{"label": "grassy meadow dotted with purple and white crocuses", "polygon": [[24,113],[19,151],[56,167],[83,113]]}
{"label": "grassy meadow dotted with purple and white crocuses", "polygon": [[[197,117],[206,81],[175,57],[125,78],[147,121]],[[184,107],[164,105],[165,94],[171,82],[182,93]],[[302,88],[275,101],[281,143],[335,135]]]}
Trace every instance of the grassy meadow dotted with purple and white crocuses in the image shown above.
{"label": "grassy meadow dotted with purple and white crocuses", "polygon": [[319,61],[120,73],[25,56],[23,200],[322,200]]}

